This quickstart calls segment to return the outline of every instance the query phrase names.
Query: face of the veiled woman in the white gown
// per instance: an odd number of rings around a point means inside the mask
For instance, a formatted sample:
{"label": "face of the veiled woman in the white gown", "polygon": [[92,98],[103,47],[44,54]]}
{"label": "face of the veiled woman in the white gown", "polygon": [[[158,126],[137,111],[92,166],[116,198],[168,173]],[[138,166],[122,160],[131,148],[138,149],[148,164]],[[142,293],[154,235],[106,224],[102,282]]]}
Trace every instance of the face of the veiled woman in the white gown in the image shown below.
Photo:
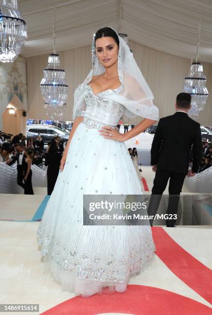
{"label": "face of the veiled woman in the white gown", "polygon": [[118,60],[119,46],[112,37],[106,36],[95,41],[95,51],[100,63],[110,67]]}

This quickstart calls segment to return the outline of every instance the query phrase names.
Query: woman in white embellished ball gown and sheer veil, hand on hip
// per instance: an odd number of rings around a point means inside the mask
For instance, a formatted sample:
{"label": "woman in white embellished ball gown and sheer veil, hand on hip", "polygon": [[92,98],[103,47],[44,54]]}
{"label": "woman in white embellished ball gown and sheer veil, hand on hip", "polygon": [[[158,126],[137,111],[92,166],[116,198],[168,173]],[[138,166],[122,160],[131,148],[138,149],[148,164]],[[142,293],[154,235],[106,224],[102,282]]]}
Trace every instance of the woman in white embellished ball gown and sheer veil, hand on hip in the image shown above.
{"label": "woman in white embellished ball gown and sheer veil, hand on hip", "polygon": [[[130,276],[155,255],[149,225],[83,225],[83,195],[143,194],[124,141],[159,119],[152,99],[125,41],[111,27],[98,30],[92,69],[74,92],[72,131],[37,230],[44,270],[63,291],[124,292]],[[123,114],[144,119],[121,134],[115,126]]]}

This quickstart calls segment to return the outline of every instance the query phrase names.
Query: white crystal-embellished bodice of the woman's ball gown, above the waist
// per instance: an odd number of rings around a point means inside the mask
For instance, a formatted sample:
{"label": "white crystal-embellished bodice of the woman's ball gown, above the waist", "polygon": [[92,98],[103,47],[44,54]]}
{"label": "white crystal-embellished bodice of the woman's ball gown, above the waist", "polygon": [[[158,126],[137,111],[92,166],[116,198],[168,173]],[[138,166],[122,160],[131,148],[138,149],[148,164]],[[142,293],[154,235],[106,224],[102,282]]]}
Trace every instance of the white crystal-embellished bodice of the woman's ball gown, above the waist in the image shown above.
{"label": "white crystal-embellished bodice of the woman's ball gown, above the waist", "polygon": [[115,128],[124,113],[125,107],[120,103],[104,98],[104,95],[111,93],[111,91],[118,92],[119,88],[95,95],[90,85],[86,86],[84,124],[88,128],[101,128],[102,126]]}

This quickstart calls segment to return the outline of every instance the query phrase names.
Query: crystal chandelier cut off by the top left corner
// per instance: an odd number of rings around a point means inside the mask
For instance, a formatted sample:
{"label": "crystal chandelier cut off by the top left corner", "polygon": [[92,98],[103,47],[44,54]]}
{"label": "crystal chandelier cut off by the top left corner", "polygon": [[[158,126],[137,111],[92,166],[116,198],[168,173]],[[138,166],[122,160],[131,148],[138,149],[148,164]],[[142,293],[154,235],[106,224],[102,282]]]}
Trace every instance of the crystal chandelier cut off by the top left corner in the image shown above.
{"label": "crystal chandelier cut off by the top left corner", "polygon": [[21,19],[17,0],[1,0],[0,62],[13,62],[26,40],[27,26]]}

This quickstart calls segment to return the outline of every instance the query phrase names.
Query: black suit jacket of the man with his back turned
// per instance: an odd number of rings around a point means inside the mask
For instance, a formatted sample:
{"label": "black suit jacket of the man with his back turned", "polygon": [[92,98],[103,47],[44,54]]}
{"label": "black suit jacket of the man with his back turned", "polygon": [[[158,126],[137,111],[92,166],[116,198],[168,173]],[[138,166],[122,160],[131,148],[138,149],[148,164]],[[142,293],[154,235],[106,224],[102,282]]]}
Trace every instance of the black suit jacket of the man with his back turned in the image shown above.
{"label": "black suit jacket of the man with his back turned", "polygon": [[194,151],[192,171],[197,173],[202,159],[200,124],[183,112],[161,118],[151,146],[151,165],[187,173],[191,145]]}

